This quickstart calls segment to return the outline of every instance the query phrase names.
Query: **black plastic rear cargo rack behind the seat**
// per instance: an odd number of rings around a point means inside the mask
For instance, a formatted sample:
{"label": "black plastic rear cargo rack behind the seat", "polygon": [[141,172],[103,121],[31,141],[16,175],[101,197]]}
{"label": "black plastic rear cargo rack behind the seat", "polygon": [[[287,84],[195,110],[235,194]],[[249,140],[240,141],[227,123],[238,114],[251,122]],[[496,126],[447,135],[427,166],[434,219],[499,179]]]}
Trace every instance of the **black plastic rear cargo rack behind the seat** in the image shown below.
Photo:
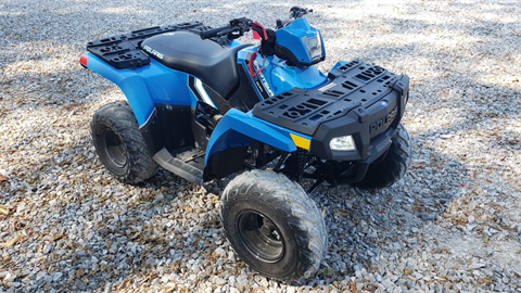
{"label": "black plastic rear cargo rack behind the seat", "polygon": [[141,41],[155,35],[171,31],[200,34],[209,29],[200,22],[189,22],[167,26],[154,26],[128,34],[104,38],[87,43],[87,50],[117,69],[140,67],[150,63],[149,55],[139,48]]}

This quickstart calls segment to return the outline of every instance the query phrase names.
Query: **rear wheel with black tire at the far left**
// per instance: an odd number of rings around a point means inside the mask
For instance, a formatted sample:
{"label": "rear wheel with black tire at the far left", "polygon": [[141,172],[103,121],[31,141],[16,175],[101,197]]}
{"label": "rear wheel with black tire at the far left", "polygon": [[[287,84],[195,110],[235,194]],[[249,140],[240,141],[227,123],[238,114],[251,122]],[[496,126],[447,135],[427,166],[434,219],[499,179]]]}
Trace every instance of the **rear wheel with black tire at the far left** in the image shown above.
{"label": "rear wheel with black tire at the far left", "polygon": [[158,165],[150,156],[127,102],[101,106],[92,117],[90,130],[101,162],[119,181],[137,184],[157,171]]}

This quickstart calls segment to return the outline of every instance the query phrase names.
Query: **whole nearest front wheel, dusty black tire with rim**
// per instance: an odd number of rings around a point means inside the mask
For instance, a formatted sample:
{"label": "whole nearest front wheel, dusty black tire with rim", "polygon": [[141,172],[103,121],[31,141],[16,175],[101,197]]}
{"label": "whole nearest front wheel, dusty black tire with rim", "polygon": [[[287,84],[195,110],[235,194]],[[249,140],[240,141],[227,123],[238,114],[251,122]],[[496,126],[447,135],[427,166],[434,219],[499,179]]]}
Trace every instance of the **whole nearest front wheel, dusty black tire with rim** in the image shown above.
{"label": "whole nearest front wheel, dusty black tire with rim", "polygon": [[301,186],[275,171],[252,170],[227,186],[221,203],[226,235],[254,270],[298,281],[318,269],[327,250],[326,224]]}

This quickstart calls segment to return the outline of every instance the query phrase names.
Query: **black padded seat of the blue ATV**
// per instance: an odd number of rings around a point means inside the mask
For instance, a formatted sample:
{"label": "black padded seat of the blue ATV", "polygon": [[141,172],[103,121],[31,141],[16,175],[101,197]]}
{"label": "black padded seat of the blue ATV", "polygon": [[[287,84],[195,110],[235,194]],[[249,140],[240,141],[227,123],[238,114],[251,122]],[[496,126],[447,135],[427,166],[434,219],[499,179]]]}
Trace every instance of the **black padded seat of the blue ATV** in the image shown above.
{"label": "black padded seat of the blue ATV", "polygon": [[148,38],[141,49],[161,64],[200,78],[226,99],[239,82],[237,52],[249,46],[228,49],[199,35],[176,31]]}

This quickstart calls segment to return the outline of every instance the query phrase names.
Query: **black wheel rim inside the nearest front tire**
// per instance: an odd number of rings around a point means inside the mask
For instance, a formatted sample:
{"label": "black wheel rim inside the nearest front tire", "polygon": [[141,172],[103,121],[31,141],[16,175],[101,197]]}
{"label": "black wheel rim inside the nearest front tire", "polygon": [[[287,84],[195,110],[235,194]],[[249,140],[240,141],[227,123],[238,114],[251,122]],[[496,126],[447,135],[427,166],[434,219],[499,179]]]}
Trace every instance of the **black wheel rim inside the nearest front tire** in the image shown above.
{"label": "black wheel rim inside the nearest front tire", "polygon": [[282,233],[265,215],[244,211],[237,225],[244,247],[256,258],[265,263],[277,263],[284,256]]}

